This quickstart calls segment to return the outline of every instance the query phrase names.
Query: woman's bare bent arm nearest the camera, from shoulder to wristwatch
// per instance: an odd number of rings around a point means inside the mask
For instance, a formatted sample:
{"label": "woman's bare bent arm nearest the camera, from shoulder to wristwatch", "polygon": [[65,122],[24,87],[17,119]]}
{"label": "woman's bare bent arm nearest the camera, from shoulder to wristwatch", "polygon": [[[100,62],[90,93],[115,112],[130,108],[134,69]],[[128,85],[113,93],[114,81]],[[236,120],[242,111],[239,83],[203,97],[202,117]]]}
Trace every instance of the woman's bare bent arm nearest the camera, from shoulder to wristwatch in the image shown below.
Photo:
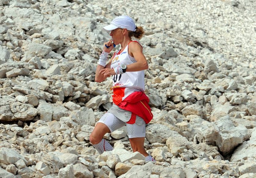
{"label": "woman's bare bent arm nearest the camera, from shoulder to wristwatch", "polygon": [[136,63],[127,65],[126,72],[135,72],[148,69],[148,62],[142,52],[142,47],[137,42],[129,44],[129,54],[135,58]]}

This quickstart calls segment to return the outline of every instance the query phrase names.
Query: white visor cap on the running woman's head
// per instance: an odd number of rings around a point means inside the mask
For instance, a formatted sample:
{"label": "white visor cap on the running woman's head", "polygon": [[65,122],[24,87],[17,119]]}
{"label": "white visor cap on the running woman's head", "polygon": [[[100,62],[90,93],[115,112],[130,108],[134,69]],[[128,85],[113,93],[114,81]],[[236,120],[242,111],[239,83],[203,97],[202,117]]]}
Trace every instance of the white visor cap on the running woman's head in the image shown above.
{"label": "white visor cap on the running woman's head", "polygon": [[111,30],[114,30],[116,28],[126,28],[127,30],[136,31],[136,25],[131,17],[129,16],[118,16],[112,22],[110,25],[107,25],[103,27],[104,30],[110,32]]}

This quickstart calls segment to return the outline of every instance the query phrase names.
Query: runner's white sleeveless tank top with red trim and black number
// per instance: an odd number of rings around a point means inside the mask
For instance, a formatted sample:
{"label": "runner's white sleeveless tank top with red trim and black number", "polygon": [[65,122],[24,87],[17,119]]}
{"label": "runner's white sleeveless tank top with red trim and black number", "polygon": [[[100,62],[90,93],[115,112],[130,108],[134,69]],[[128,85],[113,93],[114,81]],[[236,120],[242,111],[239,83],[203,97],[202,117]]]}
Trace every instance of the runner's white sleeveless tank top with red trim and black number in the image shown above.
{"label": "runner's white sleeveless tank top with red trim and black number", "polygon": [[[132,42],[139,43],[137,41],[132,41]],[[131,57],[128,53],[129,44],[124,48],[123,51],[119,50],[114,54],[114,57],[110,66],[111,69],[121,64],[125,64],[128,66],[129,64],[136,62],[136,60],[133,57]],[[116,97],[120,97],[120,99],[122,98],[122,101],[134,91],[144,92],[145,90],[144,70],[137,71],[137,72],[126,72],[124,74],[116,74],[116,75],[113,75],[112,77],[113,77],[112,78],[113,86],[111,89],[114,89],[114,95],[118,95]],[[118,93],[115,93],[115,89],[120,87],[122,89],[121,90],[118,89],[119,90]]]}

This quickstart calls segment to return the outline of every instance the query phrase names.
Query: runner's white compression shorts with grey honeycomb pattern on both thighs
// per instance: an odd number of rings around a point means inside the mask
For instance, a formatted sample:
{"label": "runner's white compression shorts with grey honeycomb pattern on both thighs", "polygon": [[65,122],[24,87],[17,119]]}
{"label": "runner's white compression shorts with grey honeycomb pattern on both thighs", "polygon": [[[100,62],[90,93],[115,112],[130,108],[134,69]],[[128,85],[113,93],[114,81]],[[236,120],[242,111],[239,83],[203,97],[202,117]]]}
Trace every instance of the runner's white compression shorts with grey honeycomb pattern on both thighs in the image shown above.
{"label": "runner's white compression shorts with grey honeycomb pattern on both thighs", "polygon": [[124,121],[118,119],[114,114],[106,112],[98,122],[101,122],[108,126],[110,132],[123,127],[127,127],[127,135],[129,138],[145,137],[146,136],[146,123],[143,124],[127,124]]}

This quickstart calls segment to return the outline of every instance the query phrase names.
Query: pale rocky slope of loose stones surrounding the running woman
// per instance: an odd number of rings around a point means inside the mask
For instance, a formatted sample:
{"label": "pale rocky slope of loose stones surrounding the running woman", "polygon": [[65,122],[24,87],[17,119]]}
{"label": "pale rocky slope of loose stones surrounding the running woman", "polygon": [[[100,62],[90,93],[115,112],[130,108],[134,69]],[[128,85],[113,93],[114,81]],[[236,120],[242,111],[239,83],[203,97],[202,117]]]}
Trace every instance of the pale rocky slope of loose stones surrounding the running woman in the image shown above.
{"label": "pale rocky slope of loose stones surrounding the running woman", "polygon": [[[1,0],[0,177],[256,177],[255,8],[253,0]],[[118,15],[146,31],[153,163],[132,153],[125,128],[105,135],[113,151],[99,155],[89,142],[111,107],[111,79],[94,75],[110,37],[102,26]]]}

